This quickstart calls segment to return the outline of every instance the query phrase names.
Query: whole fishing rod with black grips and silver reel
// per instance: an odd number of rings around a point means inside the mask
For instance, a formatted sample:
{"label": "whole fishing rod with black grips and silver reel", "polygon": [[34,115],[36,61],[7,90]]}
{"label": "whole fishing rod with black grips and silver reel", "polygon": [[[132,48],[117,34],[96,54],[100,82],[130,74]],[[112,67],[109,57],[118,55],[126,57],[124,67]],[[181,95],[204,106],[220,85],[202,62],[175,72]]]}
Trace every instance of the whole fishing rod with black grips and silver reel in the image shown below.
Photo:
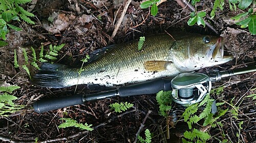
{"label": "whole fishing rod with black grips and silver reel", "polygon": [[34,111],[41,113],[58,108],[83,104],[87,101],[100,100],[111,97],[128,97],[144,94],[155,94],[159,91],[172,91],[170,95],[174,102],[187,107],[201,102],[211,90],[211,83],[220,81],[224,77],[255,72],[256,65],[233,70],[210,70],[204,73],[182,73],[170,78],[159,78],[151,81],[131,84],[115,90],[95,93],[79,94],[61,98],[51,98],[36,101]]}

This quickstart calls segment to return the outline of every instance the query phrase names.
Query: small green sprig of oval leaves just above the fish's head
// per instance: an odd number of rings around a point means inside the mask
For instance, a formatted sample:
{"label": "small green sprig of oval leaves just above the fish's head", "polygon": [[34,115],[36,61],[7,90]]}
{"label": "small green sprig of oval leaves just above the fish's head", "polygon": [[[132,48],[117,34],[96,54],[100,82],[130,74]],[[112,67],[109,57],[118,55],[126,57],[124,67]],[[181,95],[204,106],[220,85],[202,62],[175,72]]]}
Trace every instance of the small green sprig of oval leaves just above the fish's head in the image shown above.
{"label": "small green sprig of oval leaves just above the fish's head", "polygon": [[204,22],[204,19],[203,19],[203,17],[205,17],[205,16],[206,16],[206,12],[204,12],[204,11],[191,12],[190,13],[190,18],[188,19],[187,24],[189,26],[191,26],[191,25],[195,25],[197,23],[198,25],[202,24],[205,27],[205,22]]}

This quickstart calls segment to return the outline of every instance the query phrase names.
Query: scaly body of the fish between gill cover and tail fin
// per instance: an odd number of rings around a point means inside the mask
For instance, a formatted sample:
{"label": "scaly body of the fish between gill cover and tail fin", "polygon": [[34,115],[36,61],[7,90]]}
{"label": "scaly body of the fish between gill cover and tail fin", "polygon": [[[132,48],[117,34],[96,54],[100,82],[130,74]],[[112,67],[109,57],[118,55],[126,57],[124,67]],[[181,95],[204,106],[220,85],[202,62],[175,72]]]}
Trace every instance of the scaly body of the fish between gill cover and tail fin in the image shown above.
{"label": "scaly body of the fish between gill cover and tail fin", "polygon": [[169,73],[164,71],[160,73],[146,71],[144,62],[167,61],[168,50],[173,44],[174,40],[168,35],[146,38],[141,51],[138,51],[137,41],[118,44],[99,60],[85,66],[79,80],[79,69],[71,70],[67,72],[69,75],[64,76],[74,79],[67,84],[76,84],[78,80],[78,84],[108,86],[144,81],[149,79],[149,76],[167,76]]}

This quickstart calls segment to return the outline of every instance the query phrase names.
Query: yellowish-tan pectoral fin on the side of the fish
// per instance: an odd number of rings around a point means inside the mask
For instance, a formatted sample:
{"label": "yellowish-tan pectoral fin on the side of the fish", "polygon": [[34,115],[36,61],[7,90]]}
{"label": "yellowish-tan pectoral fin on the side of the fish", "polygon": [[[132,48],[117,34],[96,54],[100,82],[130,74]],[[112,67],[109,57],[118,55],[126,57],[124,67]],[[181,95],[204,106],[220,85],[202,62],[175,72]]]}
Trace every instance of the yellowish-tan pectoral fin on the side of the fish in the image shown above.
{"label": "yellowish-tan pectoral fin on the side of the fish", "polygon": [[146,61],[144,63],[144,68],[147,71],[154,72],[154,71],[163,71],[166,70],[166,66],[172,62],[166,62],[166,61]]}

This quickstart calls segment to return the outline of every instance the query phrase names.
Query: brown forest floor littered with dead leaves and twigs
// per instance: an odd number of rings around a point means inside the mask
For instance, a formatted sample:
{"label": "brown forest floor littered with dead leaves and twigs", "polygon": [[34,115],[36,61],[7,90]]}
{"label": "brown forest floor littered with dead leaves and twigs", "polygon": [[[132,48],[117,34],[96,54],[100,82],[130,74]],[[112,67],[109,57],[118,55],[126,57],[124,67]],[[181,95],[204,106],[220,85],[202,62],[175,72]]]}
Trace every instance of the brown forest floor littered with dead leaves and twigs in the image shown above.
{"label": "brown forest floor littered with dead leaves and twigs", "polygon": [[[14,95],[18,97],[16,104],[26,107],[8,117],[0,118],[0,140],[6,142],[134,142],[138,131],[145,137],[144,130],[153,134],[152,142],[181,142],[185,130],[189,130],[184,120],[177,123],[170,121],[170,139],[166,138],[166,118],[161,117],[155,95],[142,95],[129,98],[106,98],[81,105],[56,109],[44,113],[33,110],[33,102],[39,99],[64,97],[72,95],[76,87],[65,89],[41,88],[33,85],[23,68],[14,68],[14,49],[17,51],[18,63],[25,63],[22,48],[31,56],[31,46],[39,54],[41,45],[46,50],[50,44],[65,43],[58,54],[56,63],[66,65],[81,65],[81,59],[106,45],[123,43],[140,36],[156,35],[167,31],[186,31],[200,34],[216,35],[209,27],[188,26],[190,10],[182,7],[176,1],[166,1],[158,6],[158,14],[154,17],[148,14],[148,9],[140,9],[141,1],[132,1],[123,21],[113,39],[111,35],[115,24],[120,18],[126,1],[76,1],[76,0],[44,0],[33,1],[25,9],[36,15],[32,18],[35,25],[23,22],[12,23],[22,27],[23,31],[10,30],[7,35],[6,47],[0,48],[0,84],[9,83],[21,87]],[[206,0],[197,4],[197,10],[206,11],[209,15],[214,1]],[[32,7],[32,9],[31,9]],[[218,10],[214,19],[206,20],[224,38],[225,49],[234,56],[234,60],[223,65],[202,69],[236,69],[255,64],[256,36],[247,28],[240,28],[230,17],[241,13],[230,11],[225,5],[224,10]],[[99,20],[100,19],[100,20]],[[38,63],[39,64],[39,63]],[[31,74],[37,72],[29,67]],[[222,127],[203,127],[198,129],[208,131],[211,138],[207,142],[238,142],[239,123],[243,121],[240,130],[240,142],[255,142],[256,140],[256,100],[246,96],[255,94],[256,74],[247,73],[225,78],[213,84],[213,88],[224,86],[220,95],[212,95],[217,102],[227,102],[220,109],[232,109],[238,106],[238,118],[231,115],[230,110],[218,122]],[[102,90],[101,90],[102,91]],[[76,93],[90,94],[99,92],[88,89],[86,85],[78,85]],[[109,105],[115,102],[130,102],[134,106],[122,113],[114,112]],[[150,112],[152,111],[152,112]],[[147,114],[149,113],[149,114]],[[181,117],[183,110],[177,111]],[[60,118],[72,118],[78,123],[92,124],[93,131],[80,130],[75,127],[58,128],[63,123]],[[143,123],[143,127],[141,126]],[[140,127],[142,127],[140,129]]]}

